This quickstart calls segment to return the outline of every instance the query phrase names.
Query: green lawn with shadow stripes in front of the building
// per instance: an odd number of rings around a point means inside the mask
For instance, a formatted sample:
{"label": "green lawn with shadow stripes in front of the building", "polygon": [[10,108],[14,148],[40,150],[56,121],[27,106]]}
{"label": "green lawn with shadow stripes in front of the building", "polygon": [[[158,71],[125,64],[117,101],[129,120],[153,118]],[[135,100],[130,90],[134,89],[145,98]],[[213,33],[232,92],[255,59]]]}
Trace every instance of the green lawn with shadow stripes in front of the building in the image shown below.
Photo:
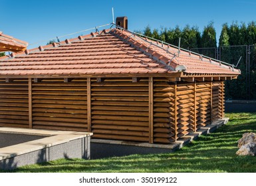
{"label": "green lawn with shadow stripes in front of the building", "polygon": [[174,153],[104,159],[59,159],[14,172],[255,172],[256,157],[237,156],[237,140],[256,132],[256,113],[226,114],[229,123]]}

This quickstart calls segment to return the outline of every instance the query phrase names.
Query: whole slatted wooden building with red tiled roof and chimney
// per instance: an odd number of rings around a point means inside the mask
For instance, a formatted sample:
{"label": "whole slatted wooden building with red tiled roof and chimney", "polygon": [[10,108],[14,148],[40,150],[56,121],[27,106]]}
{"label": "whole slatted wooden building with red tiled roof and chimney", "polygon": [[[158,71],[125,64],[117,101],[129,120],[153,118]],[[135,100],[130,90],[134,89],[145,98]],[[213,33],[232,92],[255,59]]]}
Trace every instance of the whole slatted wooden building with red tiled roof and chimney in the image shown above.
{"label": "whole slatted wooden building with red tiled roof and chimney", "polygon": [[116,23],[1,57],[0,126],[172,143],[224,117],[240,70]]}

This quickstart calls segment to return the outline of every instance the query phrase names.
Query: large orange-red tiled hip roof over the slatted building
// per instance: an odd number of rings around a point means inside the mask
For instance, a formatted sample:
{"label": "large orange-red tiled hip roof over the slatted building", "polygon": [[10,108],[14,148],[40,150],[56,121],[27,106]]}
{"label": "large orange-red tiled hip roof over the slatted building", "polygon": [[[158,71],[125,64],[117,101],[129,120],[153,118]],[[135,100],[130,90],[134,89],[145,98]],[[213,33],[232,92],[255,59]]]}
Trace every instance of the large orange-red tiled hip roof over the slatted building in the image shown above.
{"label": "large orange-red tiled hip roof over the slatted building", "polygon": [[209,58],[120,29],[80,36],[0,58],[0,76],[237,76]]}

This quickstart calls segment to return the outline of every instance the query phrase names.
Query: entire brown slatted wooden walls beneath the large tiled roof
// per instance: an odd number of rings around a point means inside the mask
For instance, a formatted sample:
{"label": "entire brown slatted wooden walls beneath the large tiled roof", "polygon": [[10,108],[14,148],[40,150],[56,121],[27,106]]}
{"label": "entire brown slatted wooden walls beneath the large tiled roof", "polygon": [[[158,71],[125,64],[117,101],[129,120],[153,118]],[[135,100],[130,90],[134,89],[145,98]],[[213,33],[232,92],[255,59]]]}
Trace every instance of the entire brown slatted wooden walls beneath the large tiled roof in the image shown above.
{"label": "entire brown slatted wooden walls beneath the large tiled roof", "polygon": [[1,79],[0,84],[0,126],[6,127],[171,143],[224,116],[223,82],[29,78]]}

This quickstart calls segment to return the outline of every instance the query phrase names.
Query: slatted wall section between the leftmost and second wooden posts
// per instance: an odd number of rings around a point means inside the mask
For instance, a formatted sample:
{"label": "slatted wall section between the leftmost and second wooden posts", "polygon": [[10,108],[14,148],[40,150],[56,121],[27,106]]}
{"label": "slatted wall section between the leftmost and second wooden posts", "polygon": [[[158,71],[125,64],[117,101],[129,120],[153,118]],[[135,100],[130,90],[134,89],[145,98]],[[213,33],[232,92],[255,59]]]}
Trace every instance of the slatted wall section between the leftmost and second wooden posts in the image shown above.
{"label": "slatted wall section between the leftmost and second wooden posts", "polygon": [[87,131],[86,78],[32,82],[33,128]]}

